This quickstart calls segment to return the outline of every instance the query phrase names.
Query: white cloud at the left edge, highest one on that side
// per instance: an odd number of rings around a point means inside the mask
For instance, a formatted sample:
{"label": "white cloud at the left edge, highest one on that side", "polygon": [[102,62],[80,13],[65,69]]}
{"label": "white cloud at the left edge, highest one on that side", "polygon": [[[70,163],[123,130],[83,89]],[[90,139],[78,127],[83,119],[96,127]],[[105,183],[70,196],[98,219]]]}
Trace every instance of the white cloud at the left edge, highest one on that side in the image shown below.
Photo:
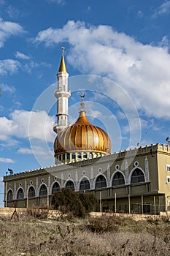
{"label": "white cloud at the left edge, highest one on that side", "polygon": [[11,21],[4,21],[0,18],[0,48],[4,46],[4,42],[11,36],[18,36],[23,34],[23,27],[18,23]]}

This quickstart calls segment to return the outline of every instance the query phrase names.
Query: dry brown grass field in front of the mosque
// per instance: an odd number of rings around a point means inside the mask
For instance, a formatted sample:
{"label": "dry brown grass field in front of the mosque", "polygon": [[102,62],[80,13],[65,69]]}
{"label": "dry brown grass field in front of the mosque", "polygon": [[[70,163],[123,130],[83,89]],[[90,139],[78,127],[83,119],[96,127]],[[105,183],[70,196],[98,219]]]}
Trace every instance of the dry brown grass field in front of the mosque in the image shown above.
{"label": "dry brown grass field in front of the mosque", "polygon": [[0,230],[0,255],[170,255],[167,219],[100,217],[71,223],[26,215],[11,222],[1,218]]}

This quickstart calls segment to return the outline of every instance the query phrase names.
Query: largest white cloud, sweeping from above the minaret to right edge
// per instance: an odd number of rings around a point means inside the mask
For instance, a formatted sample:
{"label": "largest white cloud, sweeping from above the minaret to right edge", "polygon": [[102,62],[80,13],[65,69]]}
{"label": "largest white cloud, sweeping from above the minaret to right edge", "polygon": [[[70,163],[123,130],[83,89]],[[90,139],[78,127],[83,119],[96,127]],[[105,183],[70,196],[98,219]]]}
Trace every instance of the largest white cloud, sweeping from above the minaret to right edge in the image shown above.
{"label": "largest white cloud, sweeping from above the minaret to right edge", "polygon": [[[128,92],[136,107],[148,116],[170,117],[167,47],[143,45],[110,26],[85,26],[83,22],[72,20],[62,29],[39,31],[34,42],[44,43],[46,47],[69,42],[67,61],[74,68],[115,80]],[[112,86],[106,85],[103,90],[115,99]]]}

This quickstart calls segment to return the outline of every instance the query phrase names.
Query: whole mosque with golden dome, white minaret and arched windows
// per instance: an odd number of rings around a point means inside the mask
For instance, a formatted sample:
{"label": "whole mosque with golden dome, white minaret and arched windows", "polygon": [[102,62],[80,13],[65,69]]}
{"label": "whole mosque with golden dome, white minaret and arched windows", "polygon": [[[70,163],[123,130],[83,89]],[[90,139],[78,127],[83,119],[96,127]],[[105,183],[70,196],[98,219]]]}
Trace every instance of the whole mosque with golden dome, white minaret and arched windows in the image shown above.
{"label": "whole mosque with golden dome, white minaret and arched windows", "polygon": [[[63,50],[63,49],[62,49]],[[140,146],[111,154],[107,132],[88,121],[81,95],[79,117],[68,126],[69,74],[64,54],[58,69],[55,165],[4,176],[4,206],[50,206],[63,187],[93,193],[98,211],[160,214],[170,210],[169,145]]]}

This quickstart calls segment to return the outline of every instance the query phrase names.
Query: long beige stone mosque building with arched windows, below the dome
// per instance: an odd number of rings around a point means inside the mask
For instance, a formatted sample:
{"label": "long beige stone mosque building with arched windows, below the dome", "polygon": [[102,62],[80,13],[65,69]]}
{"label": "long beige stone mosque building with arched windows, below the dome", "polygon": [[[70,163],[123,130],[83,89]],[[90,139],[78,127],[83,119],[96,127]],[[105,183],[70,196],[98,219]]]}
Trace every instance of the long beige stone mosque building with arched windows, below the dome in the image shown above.
{"label": "long beige stone mosque building with arched windows, below the dome", "polygon": [[8,207],[50,205],[52,195],[63,187],[94,193],[102,211],[168,211],[170,148],[156,144],[5,176],[4,203]]}

